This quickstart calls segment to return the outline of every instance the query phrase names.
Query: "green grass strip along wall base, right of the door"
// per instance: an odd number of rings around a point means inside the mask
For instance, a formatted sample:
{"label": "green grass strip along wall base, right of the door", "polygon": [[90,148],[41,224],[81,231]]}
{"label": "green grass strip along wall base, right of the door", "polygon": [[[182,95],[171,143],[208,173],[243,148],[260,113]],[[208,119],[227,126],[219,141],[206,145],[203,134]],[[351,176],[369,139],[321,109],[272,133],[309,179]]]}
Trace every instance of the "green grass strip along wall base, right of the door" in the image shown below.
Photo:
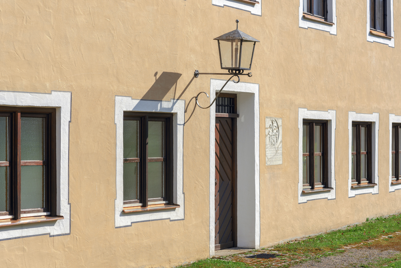
{"label": "green grass strip along wall base, right of the door", "polygon": [[385,235],[386,233],[393,233],[401,230],[401,215],[392,217],[379,217],[376,219],[367,219],[361,225],[355,225],[346,230],[332,231],[317,235],[311,239],[301,241],[298,243],[286,243],[276,245],[274,250],[285,252],[316,252],[316,251],[330,251],[341,248],[344,245],[352,245],[360,243],[366,239],[373,239]]}

